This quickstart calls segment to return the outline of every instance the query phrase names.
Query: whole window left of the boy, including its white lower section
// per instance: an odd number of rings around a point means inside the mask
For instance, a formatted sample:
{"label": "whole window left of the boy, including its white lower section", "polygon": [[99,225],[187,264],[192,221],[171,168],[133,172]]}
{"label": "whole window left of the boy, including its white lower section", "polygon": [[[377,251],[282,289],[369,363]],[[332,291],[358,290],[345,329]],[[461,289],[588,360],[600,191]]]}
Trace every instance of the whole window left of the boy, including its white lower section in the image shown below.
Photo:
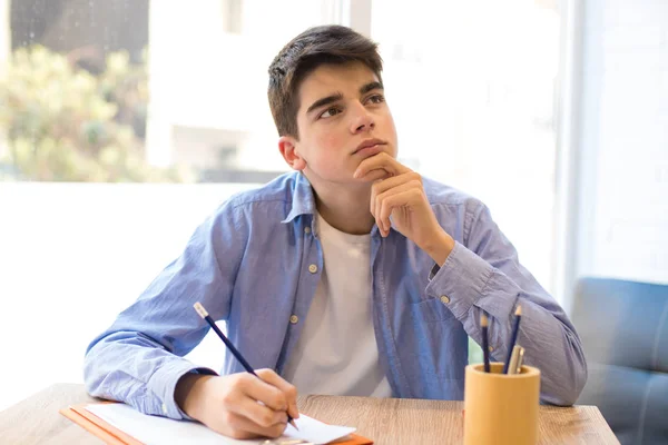
{"label": "whole window left of the boy, including its white lower section", "polygon": [[[267,69],[337,3],[0,0],[0,333],[21,333],[0,409],[80,382],[88,343],[194,228],[287,169]],[[219,367],[219,340],[190,359]]]}

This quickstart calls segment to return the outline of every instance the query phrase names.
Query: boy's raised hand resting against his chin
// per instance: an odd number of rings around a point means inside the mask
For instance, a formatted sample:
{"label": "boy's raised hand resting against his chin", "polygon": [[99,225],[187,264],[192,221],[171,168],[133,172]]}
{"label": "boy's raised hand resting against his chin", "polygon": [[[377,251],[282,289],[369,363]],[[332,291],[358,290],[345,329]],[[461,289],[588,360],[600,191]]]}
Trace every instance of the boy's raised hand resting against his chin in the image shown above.
{"label": "boy's raised hand resting against his chin", "polygon": [[370,209],[381,236],[386,237],[390,227],[394,227],[439,265],[445,263],[454,240],[439,225],[424,194],[420,174],[381,152],[364,159],[354,177],[374,182]]}

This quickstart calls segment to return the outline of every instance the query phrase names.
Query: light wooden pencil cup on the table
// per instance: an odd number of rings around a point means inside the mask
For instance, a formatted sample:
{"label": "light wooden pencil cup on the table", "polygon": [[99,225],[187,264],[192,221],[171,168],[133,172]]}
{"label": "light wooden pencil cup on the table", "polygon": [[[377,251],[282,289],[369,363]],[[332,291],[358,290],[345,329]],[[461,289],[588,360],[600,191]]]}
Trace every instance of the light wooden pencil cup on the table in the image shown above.
{"label": "light wooden pencil cup on the table", "polygon": [[540,370],[522,366],[507,375],[502,363],[466,366],[464,445],[536,445]]}

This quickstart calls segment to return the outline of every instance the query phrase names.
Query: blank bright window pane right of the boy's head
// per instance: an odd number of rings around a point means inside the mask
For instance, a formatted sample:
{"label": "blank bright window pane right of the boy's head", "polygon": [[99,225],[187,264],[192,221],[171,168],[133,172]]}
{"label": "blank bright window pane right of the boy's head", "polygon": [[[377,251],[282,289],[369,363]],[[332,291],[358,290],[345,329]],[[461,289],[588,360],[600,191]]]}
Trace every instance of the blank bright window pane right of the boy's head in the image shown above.
{"label": "blank bright window pane right of the boy's head", "polygon": [[548,289],[559,23],[520,0],[374,1],[371,22],[400,158],[482,199]]}

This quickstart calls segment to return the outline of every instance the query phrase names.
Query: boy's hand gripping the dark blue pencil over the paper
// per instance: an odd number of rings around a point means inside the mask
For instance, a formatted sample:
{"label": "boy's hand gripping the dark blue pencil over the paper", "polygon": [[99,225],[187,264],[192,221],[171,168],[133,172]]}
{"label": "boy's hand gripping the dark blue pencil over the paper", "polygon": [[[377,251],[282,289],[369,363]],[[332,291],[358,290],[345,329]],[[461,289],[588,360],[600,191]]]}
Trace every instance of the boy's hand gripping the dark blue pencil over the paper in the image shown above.
{"label": "boy's hand gripping the dark blue pencil over the paper", "polygon": [[297,390],[272,369],[226,376],[187,374],[175,390],[176,403],[190,417],[234,438],[278,437],[287,414],[297,418]]}

